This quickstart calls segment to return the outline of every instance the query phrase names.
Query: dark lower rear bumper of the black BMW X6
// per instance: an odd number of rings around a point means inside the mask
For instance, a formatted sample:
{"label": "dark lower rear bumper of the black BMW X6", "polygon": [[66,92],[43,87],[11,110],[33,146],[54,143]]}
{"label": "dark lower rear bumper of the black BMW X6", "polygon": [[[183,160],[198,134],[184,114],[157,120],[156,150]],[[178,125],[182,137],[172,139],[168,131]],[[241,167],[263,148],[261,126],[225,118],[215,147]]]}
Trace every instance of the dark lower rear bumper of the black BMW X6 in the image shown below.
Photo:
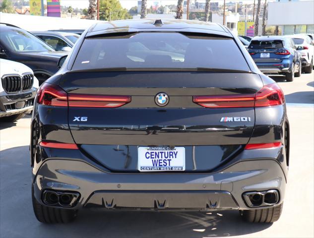
{"label": "dark lower rear bumper of the black BMW X6", "polygon": [[41,204],[46,189],[78,192],[77,203],[69,209],[206,211],[254,209],[243,199],[247,191],[276,189],[279,204],[286,177],[276,158],[240,161],[207,174],[107,173],[83,161],[51,158],[42,164],[33,185]]}

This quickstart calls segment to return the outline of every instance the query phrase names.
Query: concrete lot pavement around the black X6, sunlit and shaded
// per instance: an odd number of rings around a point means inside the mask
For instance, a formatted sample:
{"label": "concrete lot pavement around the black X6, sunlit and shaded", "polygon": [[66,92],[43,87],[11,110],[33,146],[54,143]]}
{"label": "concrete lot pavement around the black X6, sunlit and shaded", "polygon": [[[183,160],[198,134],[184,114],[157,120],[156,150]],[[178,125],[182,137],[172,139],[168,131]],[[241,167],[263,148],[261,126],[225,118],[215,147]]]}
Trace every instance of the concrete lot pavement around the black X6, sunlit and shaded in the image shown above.
{"label": "concrete lot pavement around the black X6, sunlit and shaded", "polygon": [[0,127],[0,238],[314,237],[314,74],[276,78],[291,126],[289,181],[283,213],[273,224],[249,224],[238,211],[210,213],[82,211],[74,223],[45,225],[32,211],[30,116]]}

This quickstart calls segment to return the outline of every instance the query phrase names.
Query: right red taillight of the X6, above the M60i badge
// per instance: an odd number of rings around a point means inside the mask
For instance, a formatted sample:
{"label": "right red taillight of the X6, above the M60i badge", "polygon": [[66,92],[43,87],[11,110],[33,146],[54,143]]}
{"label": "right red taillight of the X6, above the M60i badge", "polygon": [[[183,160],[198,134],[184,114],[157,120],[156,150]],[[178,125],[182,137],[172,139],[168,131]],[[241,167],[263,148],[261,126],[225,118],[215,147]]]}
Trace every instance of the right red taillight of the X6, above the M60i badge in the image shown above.
{"label": "right red taillight of the X6, above the M60i badge", "polygon": [[284,102],[284,94],[276,83],[262,87],[256,94],[193,96],[193,103],[205,108],[268,107]]}

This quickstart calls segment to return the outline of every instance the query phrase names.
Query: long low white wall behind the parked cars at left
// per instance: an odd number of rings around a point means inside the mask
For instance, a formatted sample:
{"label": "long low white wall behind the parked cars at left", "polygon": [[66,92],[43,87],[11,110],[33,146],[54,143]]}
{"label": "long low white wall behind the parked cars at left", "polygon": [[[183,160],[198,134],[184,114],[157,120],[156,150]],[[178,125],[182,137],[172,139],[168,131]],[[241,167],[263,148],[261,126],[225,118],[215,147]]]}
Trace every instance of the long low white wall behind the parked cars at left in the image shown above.
{"label": "long low white wall behind the parked cars at left", "polygon": [[46,31],[55,29],[85,29],[93,23],[104,22],[97,20],[60,18],[48,16],[19,15],[0,12],[0,22],[18,26],[27,31]]}

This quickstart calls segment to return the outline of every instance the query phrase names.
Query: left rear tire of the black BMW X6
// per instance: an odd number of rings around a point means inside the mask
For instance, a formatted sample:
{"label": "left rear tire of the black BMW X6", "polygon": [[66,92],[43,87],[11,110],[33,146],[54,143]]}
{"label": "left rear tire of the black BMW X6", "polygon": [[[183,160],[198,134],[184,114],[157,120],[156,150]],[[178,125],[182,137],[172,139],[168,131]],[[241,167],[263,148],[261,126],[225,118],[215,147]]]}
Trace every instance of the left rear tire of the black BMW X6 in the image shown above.
{"label": "left rear tire of the black BMW X6", "polygon": [[75,220],[77,210],[54,208],[43,206],[34,197],[34,187],[32,186],[32,201],[35,217],[38,221],[47,224],[69,223]]}

